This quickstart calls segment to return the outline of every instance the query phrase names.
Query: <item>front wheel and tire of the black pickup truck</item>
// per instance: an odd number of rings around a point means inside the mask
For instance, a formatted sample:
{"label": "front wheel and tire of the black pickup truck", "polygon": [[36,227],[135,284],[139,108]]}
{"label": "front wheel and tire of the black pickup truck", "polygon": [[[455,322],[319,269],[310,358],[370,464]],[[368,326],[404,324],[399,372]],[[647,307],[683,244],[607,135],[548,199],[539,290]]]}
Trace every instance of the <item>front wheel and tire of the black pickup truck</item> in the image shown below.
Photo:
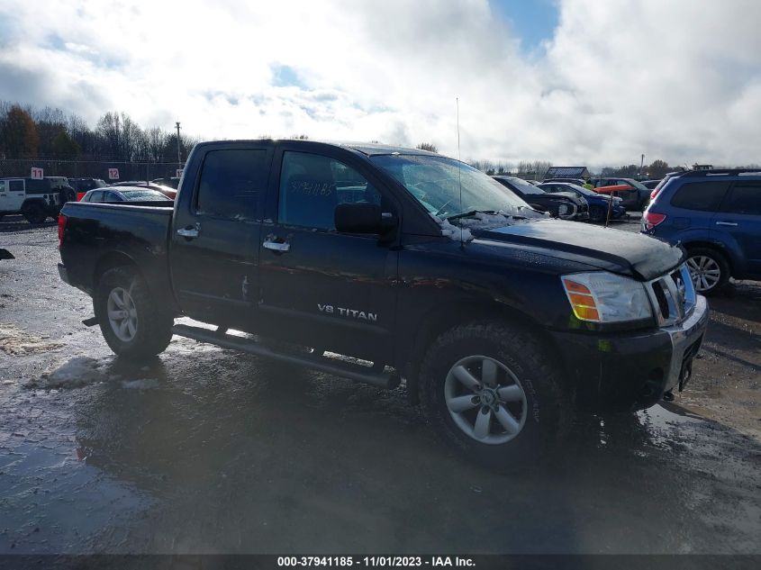
{"label": "front wheel and tire of the black pickup truck", "polygon": [[423,412],[439,435],[498,470],[534,465],[572,415],[547,350],[507,323],[443,333],[423,358],[420,382]]}

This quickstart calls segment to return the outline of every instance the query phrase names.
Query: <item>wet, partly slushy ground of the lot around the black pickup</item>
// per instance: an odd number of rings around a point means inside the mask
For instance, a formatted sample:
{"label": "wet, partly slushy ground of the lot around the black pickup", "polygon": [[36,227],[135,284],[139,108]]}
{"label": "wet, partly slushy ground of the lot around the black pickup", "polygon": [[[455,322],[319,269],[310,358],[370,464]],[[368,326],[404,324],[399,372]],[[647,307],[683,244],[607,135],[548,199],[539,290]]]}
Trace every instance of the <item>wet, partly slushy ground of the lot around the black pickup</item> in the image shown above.
{"label": "wet, partly slushy ground of the lot around the black pickup", "polygon": [[[53,224],[0,223],[0,554],[761,553],[761,443],[732,413],[680,396],[588,418],[547,466],[496,475],[403,387],[178,338],[116,359],[56,245]],[[732,372],[756,425],[757,289],[720,300],[685,393],[727,400]]]}

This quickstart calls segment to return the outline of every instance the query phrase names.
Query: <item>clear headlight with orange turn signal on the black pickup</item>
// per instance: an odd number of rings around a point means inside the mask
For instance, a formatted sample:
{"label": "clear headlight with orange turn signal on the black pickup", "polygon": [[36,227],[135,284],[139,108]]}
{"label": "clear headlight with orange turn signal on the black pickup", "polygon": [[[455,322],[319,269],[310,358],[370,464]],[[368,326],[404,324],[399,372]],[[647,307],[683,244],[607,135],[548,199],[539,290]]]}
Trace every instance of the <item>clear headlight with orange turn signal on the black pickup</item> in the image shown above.
{"label": "clear headlight with orange turn signal on the black pickup", "polygon": [[593,322],[639,321],[652,318],[645,286],[605,271],[560,277],[576,318]]}

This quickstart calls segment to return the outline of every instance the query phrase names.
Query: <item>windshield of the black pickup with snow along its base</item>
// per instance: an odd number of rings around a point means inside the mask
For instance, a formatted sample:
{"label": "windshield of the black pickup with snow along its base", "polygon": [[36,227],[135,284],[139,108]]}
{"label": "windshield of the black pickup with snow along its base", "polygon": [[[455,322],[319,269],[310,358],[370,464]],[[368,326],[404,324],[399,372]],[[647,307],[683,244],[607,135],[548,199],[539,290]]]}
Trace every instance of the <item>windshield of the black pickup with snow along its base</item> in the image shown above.
{"label": "windshield of the black pickup with snow along its base", "polygon": [[529,208],[491,176],[458,160],[395,154],[370,159],[402,183],[426,210],[440,218],[476,210],[514,213],[518,208]]}

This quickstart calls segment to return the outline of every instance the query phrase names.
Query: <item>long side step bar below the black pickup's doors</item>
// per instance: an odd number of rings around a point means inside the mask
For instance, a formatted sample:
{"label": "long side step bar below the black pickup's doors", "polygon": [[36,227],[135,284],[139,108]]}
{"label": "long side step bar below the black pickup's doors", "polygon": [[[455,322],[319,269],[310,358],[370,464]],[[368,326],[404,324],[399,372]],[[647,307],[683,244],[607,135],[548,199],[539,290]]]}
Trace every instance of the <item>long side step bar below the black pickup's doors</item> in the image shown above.
{"label": "long side step bar below the black pickup's doors", "polygon": [[232,350],[248,352],[249,354],[258,357],[274,358],[281,362],[313,368],[320,372],[343,376],[344,378],[349,378],[356,382],[364,382],[365,384],[379,386],[387,390],[394,389],[400,383],[399,375],[395,372],[385,372],[383,370],[367,368],[366,366],[341,362],[340,360],[329,357],[285,354],[283,352],[278,352],[275,348],[260,344],[256,340],[235,337],[226,334],[223,331],[191,327],[185,324],[176,324],[172,327],[172,332],[180,337],[186,337],[187,339],[200,340],[201,342],[208,342],[209,344],[215,344],[222,348],[231,348]]}

